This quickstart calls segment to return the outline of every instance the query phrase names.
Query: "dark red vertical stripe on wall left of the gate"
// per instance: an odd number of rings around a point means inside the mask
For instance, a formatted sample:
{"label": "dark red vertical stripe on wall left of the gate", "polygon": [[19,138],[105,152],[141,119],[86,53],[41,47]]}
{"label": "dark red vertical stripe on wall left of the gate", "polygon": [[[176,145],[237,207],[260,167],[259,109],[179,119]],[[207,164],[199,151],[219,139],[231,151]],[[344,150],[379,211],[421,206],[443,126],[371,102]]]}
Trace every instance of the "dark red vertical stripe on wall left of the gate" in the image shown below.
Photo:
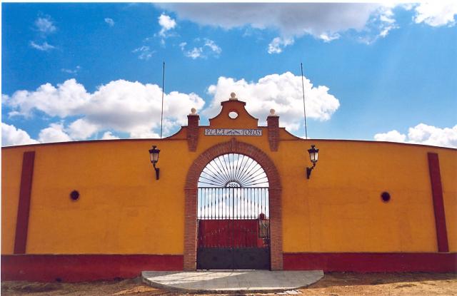
{"label": "dark red vertical stripe on wall left of the gate", "polygon": [[35,151],[24,152],[22,158],[21,188],[19,190],[19,205],[16,218],[16,238],[14,239],[14,254],[25,254],[27,245],[27,230],[29,229],[31,181],[34,176]]}

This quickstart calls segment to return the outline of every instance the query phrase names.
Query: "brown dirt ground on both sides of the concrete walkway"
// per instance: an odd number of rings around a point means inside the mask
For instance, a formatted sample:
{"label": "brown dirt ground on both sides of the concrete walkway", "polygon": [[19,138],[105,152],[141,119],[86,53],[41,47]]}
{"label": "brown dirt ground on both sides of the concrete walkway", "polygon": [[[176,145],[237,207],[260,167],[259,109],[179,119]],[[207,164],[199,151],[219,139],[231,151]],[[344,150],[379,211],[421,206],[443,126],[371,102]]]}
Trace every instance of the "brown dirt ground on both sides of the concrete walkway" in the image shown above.
{"label": "brown dirt ground on both sides of the concrete walkway", "polygon": [[[367,273],[329,272],[310,287],[262,295],[457,295],[453,273]],[[150,287],[138,277],[81,283],[1,282],[1,295],[191,295]],[[248,294],[253,295],[253,294]],[[258,295],[258,294],[257,294]]]}

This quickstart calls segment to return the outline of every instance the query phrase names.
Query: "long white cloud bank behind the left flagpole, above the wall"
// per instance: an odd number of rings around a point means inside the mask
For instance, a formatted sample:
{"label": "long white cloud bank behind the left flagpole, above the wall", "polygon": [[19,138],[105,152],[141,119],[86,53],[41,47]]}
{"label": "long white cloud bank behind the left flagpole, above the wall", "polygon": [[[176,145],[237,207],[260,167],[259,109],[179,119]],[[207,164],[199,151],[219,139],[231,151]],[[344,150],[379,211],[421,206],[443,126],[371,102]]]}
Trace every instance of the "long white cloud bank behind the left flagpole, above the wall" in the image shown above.
{"label": "long white cloud bank behind the left flagpole, above the wall", "polygon": [[[106,130],[129,133],[131,138],[148,138],[158,136],[161,96],[156,84],[118,80],[88,93],[75,79],[69,79],[57,87],[46,83],[36,91],[2,96],[2,103],[11,108],[9,116],[33,116],[34,111],[41,111],[64,120],[79,117],[68,127],[54,123],[41,131],[39,141],[85,139]],[[204,100],[195,93],[165,93],[164,135],[185,125],[191,108],[203,106]]]}

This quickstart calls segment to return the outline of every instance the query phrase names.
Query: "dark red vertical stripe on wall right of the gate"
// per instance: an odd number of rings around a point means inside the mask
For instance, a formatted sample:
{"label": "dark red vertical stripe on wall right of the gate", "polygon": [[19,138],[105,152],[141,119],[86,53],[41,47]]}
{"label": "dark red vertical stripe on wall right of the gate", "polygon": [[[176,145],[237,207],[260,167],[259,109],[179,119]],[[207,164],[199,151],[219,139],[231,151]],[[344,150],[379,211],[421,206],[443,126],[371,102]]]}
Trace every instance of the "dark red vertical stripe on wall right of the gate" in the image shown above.
{"label": "dark red vertical stripe on wall right of the gate", "polygon": [[433,210],[435,211],[436,239],[438,252],[449,252],[446,215],[444,213],[443,188],[441,187],[440,162],[438,153],[428,153]]}

